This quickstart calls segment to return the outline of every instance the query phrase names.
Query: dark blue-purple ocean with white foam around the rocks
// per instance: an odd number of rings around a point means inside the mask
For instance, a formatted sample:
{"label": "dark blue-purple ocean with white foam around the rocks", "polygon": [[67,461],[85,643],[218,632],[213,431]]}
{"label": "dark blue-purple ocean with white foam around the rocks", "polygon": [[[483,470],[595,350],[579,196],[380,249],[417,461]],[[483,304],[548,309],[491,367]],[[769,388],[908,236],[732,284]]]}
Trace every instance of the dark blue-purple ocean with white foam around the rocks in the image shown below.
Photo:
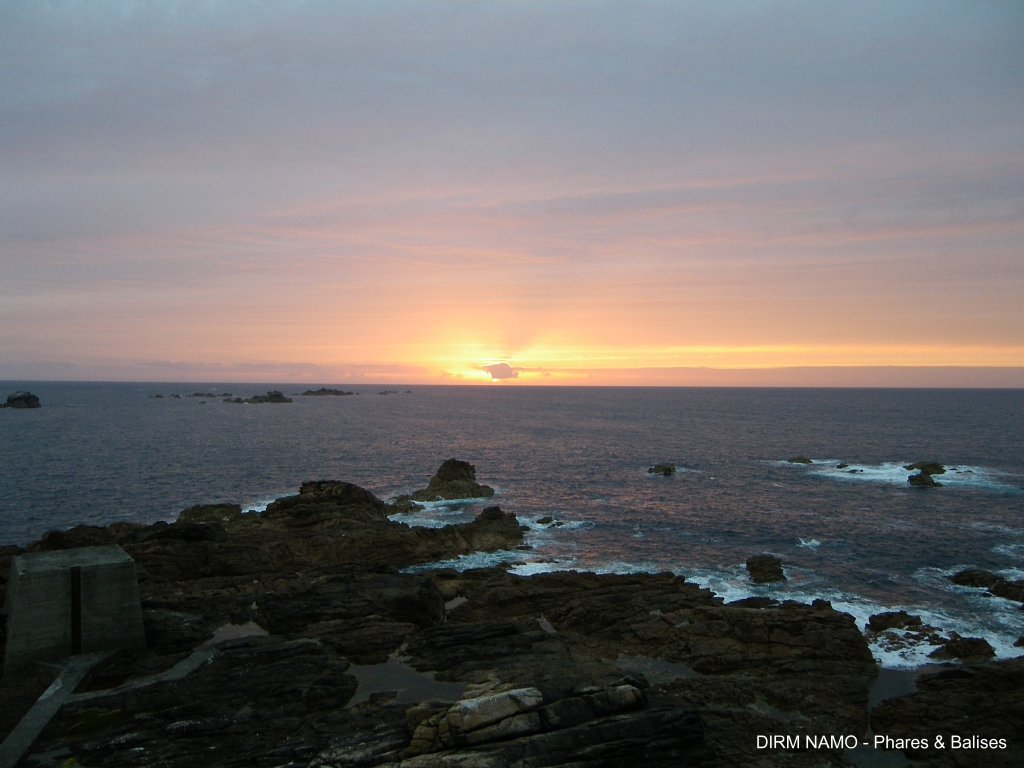
{"label": "dark blue-purple ocean with white foam around the rocks", "polygon": [[[319,386],[0,383],[43,403],[0,410],[0,545],[194,504],[258,510],[311,479],[388,500],[454,457],[496,497],[396,519],[441,525],[499,504],[529,548],[444,566],[671,570],[727,600],[823,598],[861,625],[906,609],[998,657],[1024,653],[1019,604],[947,580],[968,566],[1024,578],[1024,390],[345,386],[358,394],[222,401]],[[813,463],[786,461],[798,455]],[[942,487],[910,487],[915,461],[944,464]],[[662,462],[677,473],[647,472]],[[785,583],[750,583],[744,562],[763,552]],[[892,668],[931,649],[872,642]]]}

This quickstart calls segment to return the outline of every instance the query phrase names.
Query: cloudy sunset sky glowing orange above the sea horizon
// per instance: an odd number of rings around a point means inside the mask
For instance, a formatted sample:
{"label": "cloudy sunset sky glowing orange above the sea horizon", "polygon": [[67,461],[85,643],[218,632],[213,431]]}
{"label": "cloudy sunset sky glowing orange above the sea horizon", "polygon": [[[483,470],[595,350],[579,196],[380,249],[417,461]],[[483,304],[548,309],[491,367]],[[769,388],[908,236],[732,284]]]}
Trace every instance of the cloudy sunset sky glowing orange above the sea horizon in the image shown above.
{"label": "cloudy sunset sky glowing orange above the sea horizon", "polygon": [[0,379],[1024,387],[1024,3],[0,0]]}

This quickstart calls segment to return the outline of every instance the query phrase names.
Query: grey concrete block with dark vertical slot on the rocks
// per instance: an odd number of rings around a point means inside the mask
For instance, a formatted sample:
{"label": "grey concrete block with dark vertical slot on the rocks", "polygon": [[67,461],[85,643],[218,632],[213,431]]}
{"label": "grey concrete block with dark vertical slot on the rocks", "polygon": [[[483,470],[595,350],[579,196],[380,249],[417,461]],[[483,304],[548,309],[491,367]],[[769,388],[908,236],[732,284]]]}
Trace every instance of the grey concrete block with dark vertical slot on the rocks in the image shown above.
{"label": "grey concrete block with dark vertical slot on the rocks", "polygon": [[145,647],[135,561],[117,546],[14,557],[6,612],[5,674],[78,653]]}

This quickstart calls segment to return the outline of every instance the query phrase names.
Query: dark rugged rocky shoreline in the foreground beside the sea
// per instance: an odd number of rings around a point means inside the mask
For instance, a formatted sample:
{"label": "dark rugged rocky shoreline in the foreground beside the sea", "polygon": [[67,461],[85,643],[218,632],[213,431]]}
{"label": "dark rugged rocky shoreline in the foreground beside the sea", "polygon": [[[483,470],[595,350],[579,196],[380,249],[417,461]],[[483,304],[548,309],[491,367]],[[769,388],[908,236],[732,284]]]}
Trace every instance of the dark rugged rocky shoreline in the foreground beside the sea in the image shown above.
{"label": "dark rugged rocky shoreline in the foreground beside the sea", "polygon": [[[445,462],[420,497],[487,488],[470,470]],[[312,481],[258,514],[44,536],[29,551],[132,556],[148,647],[98,662],[17,765],[1022,764],[1022,660],[942,665],[880,700],[864,635],[824,601],[726,604],[671,573],[407,572],[523,546],[497,506],[443,528],[389,519],[415,499]],[[0,587],[19,552],[0,551]],[[0,737],[52,675],[0,679]],[[819,743],[878,734],[903,741]],[[910,743],[940,735],[1005,746]]]}

